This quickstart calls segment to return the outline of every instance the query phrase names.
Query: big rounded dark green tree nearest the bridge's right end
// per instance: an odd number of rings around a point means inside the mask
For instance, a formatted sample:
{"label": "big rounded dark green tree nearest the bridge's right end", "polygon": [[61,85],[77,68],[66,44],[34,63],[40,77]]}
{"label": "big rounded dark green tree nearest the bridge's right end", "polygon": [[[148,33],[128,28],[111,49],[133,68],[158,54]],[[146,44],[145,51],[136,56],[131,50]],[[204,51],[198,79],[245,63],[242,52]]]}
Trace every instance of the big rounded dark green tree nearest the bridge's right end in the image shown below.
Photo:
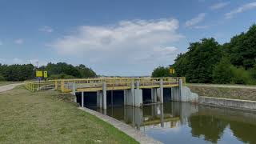
{"label": "big rounded dark green tree nearest the bridge's right end", "polygon": [[219,62],[221,46],[214,38],[204,38],[202,42],[190,43],[186,54],[179,54],[174,68],[178,76],[186,76],[189,82],[212,82],[214,65]]}

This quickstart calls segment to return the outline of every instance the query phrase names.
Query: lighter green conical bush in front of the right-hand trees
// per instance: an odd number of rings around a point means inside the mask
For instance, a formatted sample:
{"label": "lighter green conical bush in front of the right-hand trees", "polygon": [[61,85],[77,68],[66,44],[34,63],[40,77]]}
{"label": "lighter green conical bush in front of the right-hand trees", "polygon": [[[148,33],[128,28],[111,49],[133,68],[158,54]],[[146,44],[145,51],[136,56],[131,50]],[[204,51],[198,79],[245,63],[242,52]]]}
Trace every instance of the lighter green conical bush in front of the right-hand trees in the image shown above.
{"label": "lighter green conical bush in front of the right-hand trees", "polygon": [[230,83],[232,78],[232,65],[229,58],[222,58],[213,71],[213,82],[214,83]]}

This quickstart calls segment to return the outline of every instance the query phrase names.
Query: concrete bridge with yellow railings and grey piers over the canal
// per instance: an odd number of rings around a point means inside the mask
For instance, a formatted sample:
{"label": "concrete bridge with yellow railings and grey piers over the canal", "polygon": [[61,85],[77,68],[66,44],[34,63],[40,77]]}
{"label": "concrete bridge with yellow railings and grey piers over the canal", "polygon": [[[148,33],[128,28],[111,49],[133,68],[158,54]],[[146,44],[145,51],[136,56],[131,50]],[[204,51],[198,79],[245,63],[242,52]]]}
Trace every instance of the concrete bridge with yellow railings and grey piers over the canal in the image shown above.
{"label": "concrete bridge with yellow railings and grey piers over the canal", "polygon": [[[86,78],[58,79],[46,82],[26,82],[26,88],[32,91],[59,90],[76,96],[75,101],[85,106],[86,96],[93,94],[97,106],[107,107],[107,91],[122,91],[123,104],[129,106],[143,105],[143,90],[150,90],[150,102],[163,103],[164,89],[170,89],[172,101],[196,102],[197,99],[185,86],[182,77],[168,78]],[[111,101],[114,97],[112,94]]]}

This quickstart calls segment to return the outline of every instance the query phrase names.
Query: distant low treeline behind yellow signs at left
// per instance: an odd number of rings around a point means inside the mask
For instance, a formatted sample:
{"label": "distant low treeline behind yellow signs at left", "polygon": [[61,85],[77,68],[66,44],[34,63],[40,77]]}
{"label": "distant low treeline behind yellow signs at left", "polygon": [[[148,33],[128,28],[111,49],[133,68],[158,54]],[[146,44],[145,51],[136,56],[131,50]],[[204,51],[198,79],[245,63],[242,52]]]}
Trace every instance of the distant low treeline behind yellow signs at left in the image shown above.
{"label": "distant low treeline behind yellow signs at left", "polygon": [[84,66],[72,66],[65,62],[48,63],[36,68],[32,64],[2,65],[0,64],[0,81],[24,81],[35,78],[36,70],[48,71],[49,79],[54,78],[91,78],[96,77],[94,70]]}

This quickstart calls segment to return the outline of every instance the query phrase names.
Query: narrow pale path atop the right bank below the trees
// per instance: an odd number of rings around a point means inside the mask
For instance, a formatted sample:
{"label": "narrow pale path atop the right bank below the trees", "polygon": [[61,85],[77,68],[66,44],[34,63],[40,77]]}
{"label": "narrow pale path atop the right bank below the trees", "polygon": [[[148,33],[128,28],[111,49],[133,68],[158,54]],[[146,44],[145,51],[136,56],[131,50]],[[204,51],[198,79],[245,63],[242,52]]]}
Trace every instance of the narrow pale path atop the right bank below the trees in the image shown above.
{"label": "narrow pale path atop the right bank below the trees", "polygon": [[256,89],[256,86],[246,86],[246,85],[221,85],[221,84],[198,84],[198,83],[187,83],[186,85],[187,86],[206,86],[206,87]]}

